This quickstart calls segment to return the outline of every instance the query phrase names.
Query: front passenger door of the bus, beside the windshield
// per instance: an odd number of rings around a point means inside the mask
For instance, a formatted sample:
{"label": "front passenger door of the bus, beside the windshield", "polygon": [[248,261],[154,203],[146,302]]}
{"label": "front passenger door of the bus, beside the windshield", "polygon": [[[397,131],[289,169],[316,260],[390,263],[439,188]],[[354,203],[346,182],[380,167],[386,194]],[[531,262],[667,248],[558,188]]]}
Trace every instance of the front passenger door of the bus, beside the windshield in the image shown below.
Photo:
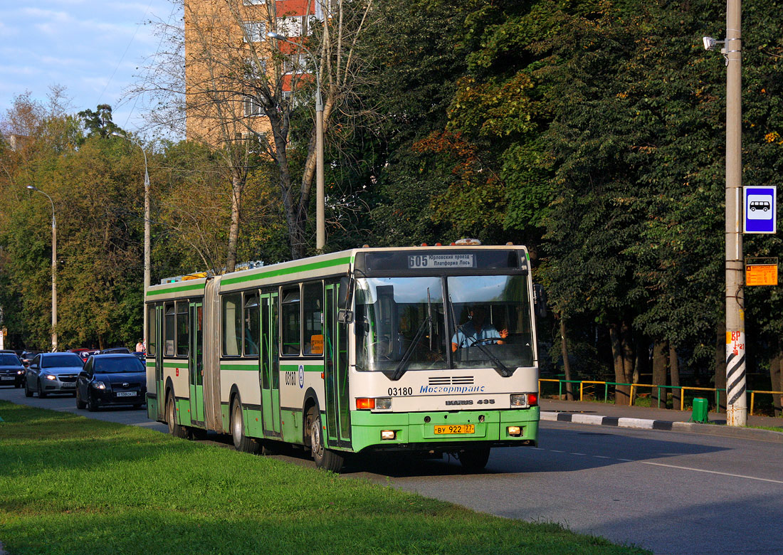
{"label": "front passenger door of the bus, beside the windshield", "polygon": [[337,322],[337,286],[327,285],[324,323],[324,388],[327,395],[328,445],[351,446],[351,406],[348,399],[348,333],[347,326]]}

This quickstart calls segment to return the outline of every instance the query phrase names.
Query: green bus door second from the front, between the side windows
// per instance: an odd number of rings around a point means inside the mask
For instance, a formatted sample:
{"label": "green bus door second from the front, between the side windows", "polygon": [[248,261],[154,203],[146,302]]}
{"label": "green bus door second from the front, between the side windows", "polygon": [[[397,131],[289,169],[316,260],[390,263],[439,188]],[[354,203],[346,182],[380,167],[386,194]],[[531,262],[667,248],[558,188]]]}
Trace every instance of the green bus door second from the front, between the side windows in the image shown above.
{"label": "green bus door second from the front, between the side windows", "polygon": [[261,295],[261,341],[258,378],[261,381],[261,411],[264,435],[280,437],[280,362],[277,344],[277,294]]}

